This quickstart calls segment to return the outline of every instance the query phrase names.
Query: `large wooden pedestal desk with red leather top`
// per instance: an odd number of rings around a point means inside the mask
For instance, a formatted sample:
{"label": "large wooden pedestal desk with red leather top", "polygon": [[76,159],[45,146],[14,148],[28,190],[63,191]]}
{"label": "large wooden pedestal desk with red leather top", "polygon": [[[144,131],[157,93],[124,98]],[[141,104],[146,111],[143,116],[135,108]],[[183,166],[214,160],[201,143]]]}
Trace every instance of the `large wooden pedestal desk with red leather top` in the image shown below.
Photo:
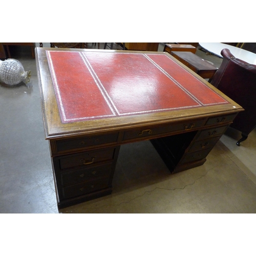
{"label": "large wooden pedestal desk with red leather top", "polygon": [[112,193],[120,145],[177,173],[206,161],[240,105],[165,52],[36,48],[58,207]]}

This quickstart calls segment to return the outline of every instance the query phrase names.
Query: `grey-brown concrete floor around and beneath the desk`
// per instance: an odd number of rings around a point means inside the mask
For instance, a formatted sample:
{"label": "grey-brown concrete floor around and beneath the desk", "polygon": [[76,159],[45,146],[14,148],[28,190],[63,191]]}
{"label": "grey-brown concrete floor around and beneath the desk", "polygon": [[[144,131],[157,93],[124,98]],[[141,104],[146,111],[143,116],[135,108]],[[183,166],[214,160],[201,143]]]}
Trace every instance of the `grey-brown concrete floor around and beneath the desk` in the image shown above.
{"label": "grey-brown concrete floor around and beneath the desk", "polygon": [[[150,142],[122,145],[113,194],[58,210],[35,59],[22,51],[12,57],[31,70],[32,88],[0,86],[0,213],[256,212],[256,130],[238,147],[240,133],[231,129],[203,166],[175,175]],[[220,66],[219,57],[197,54]]]}

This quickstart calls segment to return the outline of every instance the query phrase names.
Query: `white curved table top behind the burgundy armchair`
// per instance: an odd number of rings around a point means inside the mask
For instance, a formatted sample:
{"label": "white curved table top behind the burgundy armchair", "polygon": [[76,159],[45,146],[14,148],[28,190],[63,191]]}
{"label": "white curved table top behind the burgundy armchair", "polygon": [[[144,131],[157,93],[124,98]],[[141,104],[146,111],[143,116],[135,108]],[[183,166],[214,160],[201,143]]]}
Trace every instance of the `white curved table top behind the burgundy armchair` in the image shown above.
{"label": "white curved table top behind the burgundy armchair", "polygon": [[199,42],[199,45],[208,52],[222,58],[221,51],[226,48],[234,55],[234,57],[242,59],[250,64],[256,65],[256,54],[244,49],[222,44],[221,42]]}

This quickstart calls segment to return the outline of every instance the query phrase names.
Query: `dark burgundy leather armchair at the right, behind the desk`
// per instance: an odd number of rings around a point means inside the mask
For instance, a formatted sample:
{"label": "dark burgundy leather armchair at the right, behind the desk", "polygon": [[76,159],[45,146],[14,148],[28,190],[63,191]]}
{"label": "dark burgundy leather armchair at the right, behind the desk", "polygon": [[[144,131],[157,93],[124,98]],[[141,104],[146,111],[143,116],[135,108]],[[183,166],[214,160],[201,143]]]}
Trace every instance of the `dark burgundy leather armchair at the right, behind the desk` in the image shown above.
{"label": "dark burgundy leather armchair at the right, behind the desk", "polygon": [[242,132],[240,146],[256,126],[256,65],[234,57],[228,49],[221,55],[223,61],[210,83],[244,108],[230,125]]}

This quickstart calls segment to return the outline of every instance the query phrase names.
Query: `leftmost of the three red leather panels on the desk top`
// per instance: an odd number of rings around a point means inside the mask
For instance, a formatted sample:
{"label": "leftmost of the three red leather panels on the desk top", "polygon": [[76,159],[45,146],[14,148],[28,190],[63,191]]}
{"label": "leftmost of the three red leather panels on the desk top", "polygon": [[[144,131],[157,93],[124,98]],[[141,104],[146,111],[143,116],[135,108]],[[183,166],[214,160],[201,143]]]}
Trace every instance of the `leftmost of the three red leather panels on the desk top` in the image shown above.
{"label": "leftmost of the three red leather panels on the desk top", "polygon": [[114,116],[79,54],[59,53],[48,60],[62,122]]}

